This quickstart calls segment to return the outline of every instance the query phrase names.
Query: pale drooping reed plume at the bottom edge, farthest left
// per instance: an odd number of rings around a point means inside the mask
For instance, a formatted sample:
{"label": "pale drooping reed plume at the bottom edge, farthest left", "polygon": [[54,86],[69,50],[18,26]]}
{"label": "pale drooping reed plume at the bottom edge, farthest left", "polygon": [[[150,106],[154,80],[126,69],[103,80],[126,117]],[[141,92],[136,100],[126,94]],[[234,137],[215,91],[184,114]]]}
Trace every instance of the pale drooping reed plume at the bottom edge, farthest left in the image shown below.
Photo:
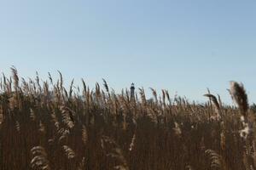
{"label": "pale drooping reed plume at the bottom edge, farthest left", "polygon": [[32,161],[30,162],[32,169],[50,170],[49,161],[44,147],[35,146],[32,148],[31,152],[33,156]]}

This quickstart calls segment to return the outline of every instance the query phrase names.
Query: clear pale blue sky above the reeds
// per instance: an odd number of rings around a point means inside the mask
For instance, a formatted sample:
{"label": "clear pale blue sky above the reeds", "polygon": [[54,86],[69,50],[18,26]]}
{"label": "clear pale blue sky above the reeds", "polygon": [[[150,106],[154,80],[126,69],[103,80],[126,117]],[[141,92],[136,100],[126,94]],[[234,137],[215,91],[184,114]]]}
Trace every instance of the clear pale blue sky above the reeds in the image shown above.
{"label": "clear pale blue sky above the reeds", "polygon": [[[256,103],[255,0],[0,1],[0,71],[45,80],[58,72],[120,91],[168,89],[226,104],[230,81]],[[149,96],[148,96],[149,97]]]}

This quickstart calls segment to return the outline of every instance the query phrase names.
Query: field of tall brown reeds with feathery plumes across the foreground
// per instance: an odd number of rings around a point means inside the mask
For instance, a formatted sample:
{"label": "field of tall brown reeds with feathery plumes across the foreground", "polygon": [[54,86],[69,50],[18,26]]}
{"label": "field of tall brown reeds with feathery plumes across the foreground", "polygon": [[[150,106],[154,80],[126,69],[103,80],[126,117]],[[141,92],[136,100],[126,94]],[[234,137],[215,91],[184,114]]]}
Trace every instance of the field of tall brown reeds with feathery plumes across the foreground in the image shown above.
{"label": "field of tall brown reeds with feathery plumes across the foreground", "polygon": [[240,83],[230,83],[236,106],[227,106],[210,92],[199,105],[166,90],[148,100],[143,88],[133,96],[82,82],[3,75],[0,169],[256,169],[255,117]]}

